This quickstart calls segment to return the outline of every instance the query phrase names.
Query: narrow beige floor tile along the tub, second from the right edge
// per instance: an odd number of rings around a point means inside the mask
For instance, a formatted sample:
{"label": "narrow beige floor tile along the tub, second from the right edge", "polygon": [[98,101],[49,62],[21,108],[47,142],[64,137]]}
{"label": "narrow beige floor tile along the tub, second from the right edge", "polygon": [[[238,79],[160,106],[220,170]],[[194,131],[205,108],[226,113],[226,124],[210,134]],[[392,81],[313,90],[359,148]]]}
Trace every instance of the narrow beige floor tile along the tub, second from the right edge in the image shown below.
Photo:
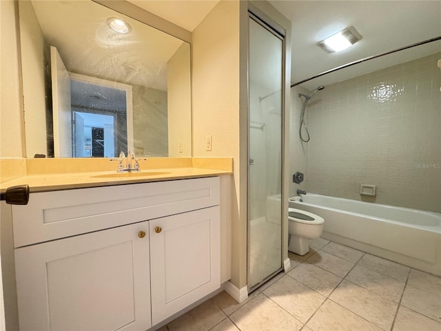
{"label": "narrow beige floor tile along the tub, second from the right edge", "polygon": [[358,264],[398,281],[406,281],[410,270],[406,265],[382,259],[381,257],[376,257],[371,254],[363,255]]}

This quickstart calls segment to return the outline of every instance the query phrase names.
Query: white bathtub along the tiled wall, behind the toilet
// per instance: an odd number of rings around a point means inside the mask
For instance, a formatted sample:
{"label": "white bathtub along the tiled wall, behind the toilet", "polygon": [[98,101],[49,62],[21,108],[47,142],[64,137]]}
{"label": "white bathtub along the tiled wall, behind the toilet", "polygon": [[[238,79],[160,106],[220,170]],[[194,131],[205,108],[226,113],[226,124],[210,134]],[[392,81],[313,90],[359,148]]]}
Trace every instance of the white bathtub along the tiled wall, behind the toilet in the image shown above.
{"label": "white bathtub along the tiled wall, behind the toilet", "polygon": [[441,276],[441,214],[308,193],[289,207],[325,219],[322,237]]}

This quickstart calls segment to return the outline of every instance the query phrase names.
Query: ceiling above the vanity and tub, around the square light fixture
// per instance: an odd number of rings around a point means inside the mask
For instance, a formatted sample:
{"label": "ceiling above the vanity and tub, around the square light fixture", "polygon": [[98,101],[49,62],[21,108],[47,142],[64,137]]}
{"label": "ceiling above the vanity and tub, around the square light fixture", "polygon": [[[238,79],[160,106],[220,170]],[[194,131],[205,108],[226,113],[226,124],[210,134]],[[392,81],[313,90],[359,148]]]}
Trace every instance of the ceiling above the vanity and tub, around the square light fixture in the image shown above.
{"label": "ceiling above the vanity and tub, around the square light fixture", "polygon": [[[129,0],[189,31],[194,30],[218,1]],[[441,36],[441,1],[287,1],[269,0],[292,23],[291,82],[332,68]],[[316,43],[348,26],[362,40],[339,53],[327,53]],[[305,88],[327,85],[393,66],[441,50],[441,42],[368,61],[350,70],[303,83]]]}

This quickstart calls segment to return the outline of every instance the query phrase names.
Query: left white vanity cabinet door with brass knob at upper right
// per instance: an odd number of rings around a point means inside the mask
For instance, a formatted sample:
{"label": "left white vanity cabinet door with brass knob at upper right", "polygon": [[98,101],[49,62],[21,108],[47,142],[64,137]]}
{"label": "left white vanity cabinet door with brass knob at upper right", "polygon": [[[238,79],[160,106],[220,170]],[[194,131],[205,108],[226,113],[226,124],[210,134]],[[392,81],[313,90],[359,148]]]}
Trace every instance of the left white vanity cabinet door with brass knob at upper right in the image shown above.
{"label": "left white vanity cabinet door with brass knob at upper right", "polygon": [[148,231],[141,222],[15,250],[20,330],[150,328]]}

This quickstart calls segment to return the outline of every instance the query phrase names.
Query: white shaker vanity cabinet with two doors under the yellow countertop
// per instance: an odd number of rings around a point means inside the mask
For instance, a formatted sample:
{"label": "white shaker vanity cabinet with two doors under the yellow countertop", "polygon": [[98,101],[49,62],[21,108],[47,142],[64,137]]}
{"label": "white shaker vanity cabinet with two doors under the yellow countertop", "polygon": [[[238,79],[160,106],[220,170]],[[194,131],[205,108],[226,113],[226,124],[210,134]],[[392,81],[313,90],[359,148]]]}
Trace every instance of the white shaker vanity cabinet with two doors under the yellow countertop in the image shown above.
{"label": "white shaker vanity cabinet with two doors under the yellow countertop", "polygon": [[20,330],[147,330],[220,288],[219,178],[12,206]]}

